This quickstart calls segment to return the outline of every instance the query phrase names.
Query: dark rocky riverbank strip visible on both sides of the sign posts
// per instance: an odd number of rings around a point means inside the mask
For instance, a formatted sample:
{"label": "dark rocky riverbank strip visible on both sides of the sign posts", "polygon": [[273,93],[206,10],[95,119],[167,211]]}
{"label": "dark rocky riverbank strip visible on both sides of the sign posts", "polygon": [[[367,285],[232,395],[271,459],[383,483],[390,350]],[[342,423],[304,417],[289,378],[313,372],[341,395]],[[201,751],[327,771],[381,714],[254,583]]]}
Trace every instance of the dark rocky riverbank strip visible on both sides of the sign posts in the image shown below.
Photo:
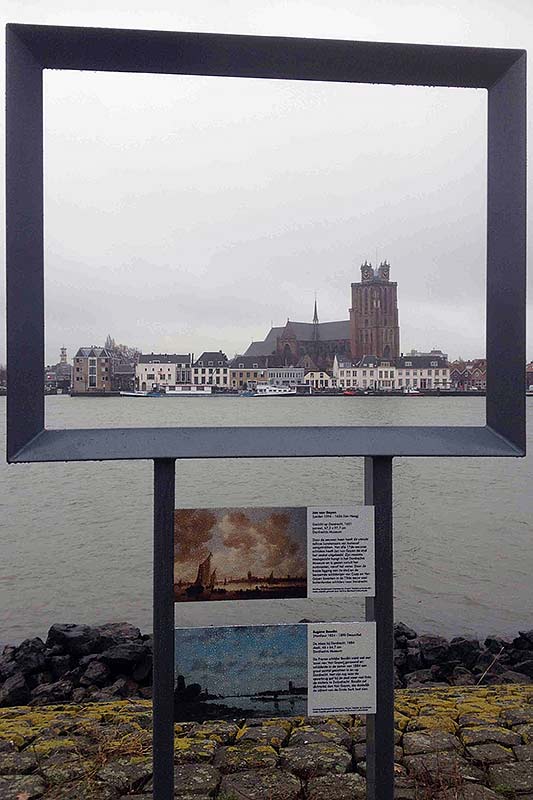
{"label": "dark rocky riverbank strip visible on both sides of the sign posts", "polygon": [[[533,629],[513,639],[424,634],[394,626],[395,688],[533,684]],[[129,623],[52,625],[0,656],[0,706],[149,699],[152,638]]]}

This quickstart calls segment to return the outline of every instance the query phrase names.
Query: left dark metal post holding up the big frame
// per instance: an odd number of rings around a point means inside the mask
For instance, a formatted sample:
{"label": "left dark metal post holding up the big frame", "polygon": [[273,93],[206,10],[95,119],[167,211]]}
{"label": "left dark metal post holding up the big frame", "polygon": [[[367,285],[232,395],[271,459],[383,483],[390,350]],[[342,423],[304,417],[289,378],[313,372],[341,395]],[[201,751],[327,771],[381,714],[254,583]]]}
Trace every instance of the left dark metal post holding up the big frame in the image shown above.
{"label": "left dark metal post holding up the big frame", "polygon": [[173,458],[154,460],[154,800],[174,797],[174,506]]}

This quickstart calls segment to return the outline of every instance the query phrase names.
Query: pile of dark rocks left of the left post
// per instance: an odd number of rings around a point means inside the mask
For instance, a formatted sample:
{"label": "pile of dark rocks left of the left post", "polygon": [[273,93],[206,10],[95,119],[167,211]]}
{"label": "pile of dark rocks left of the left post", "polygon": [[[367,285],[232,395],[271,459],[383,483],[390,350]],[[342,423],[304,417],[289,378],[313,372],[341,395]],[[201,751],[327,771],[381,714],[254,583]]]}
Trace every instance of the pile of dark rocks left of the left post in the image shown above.
{"label": "pile of dark rocks left of the left post", "polygon": [[0,706],[150,698],[152,639],[125,622],[52,625],[0,656]]}

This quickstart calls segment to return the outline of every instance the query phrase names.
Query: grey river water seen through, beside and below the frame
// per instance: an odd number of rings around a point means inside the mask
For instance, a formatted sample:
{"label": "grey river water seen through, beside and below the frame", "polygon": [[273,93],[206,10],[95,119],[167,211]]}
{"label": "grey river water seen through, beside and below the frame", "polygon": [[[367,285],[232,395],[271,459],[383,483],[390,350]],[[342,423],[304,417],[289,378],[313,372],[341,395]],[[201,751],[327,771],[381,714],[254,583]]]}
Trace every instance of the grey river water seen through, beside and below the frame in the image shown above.
{"label": "grey river water seen through, beside and below the frame", "polygon": [[[5,398],[0,398],[2,436]],[[527,399],[529,448],[533,398]],[[484,399],[46,399],[48,427],[472,425]],[[5,445],[2,442],[2,453]],[[151,629],[152,464],[0,465],[0,641],[54,622]],[[362,502],[362,459],[178,462],[178,506]],[[533,457],[396,459],[396,619],[446,636],[512,635],[533,616]],[[363,619],[357,601],[184,604],[178,625]]]}

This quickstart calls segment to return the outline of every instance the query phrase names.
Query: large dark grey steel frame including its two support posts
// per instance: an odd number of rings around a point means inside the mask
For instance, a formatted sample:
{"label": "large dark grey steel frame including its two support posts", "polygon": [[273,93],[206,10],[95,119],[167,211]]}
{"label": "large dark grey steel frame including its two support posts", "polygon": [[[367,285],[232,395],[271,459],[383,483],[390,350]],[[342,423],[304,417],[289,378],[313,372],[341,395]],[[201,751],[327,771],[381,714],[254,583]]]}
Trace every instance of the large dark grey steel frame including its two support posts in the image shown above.
{"label": "large dark grey steel frame including its two support posts", "polygon": [[[483,427],[45,429],[44,69],[488,90],[487,420]],[[392,458],[525,454],[526,55],[433,45],[7,26],[8,444],[11,463],[154,460],[154,798],[173,796],[175,460],[365,456],[376,509],[377,713],[367,796],[393,798]]]}

